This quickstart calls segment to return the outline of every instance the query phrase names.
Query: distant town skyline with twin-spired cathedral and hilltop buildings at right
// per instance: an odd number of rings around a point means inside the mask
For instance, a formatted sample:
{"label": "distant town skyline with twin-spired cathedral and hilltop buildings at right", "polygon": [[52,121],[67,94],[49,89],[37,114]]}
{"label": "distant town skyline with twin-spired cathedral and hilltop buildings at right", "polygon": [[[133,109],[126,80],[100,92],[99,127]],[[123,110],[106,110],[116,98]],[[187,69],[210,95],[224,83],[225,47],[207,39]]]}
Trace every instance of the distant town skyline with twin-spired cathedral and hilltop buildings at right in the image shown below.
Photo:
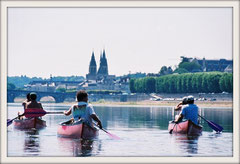
{"label": "distant town skyline with twin-spired cathedral and hilltop buildings at right", "polygon": [[108,61],[105,50],[100,54],[100,65],[97,69],[95,54],[92,52],[89,73],[86,78],[81,80],[53,80],[52,75],[48,80],[33,80],[25,84],[23,89],[27,91],[42,91],[42,92],[66,92],[76,90],[86,91],[100,91],[110,90],[122,93],[130,93],[129,81],[131,78],[142,77],[159,77],[167,74],[181,74],[181,73],[195,73],[195,72],[233,72],[233,61],[226,59],[208,60],[188,58],[181,56],[182,61],[179,63],[178,68],[172,70],[169,66],[163,66],[158,73],[129,73],[127,75],[119,76],[108,74]]}

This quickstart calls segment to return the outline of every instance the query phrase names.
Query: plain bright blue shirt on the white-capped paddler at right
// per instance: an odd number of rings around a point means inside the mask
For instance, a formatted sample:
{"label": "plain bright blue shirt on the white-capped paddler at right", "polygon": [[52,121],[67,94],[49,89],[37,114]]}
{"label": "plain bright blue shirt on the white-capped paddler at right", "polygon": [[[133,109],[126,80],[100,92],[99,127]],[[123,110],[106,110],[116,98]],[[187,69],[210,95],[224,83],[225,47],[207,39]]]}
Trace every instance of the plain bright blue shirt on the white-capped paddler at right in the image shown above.
{"label": "plain bright blue shirt on the white-capped paddler at right", "polygon": [[191,120],[196,125],[198,125],[198,107],[195,104],[188,104],[182,106],[181,114],[185,119]]}

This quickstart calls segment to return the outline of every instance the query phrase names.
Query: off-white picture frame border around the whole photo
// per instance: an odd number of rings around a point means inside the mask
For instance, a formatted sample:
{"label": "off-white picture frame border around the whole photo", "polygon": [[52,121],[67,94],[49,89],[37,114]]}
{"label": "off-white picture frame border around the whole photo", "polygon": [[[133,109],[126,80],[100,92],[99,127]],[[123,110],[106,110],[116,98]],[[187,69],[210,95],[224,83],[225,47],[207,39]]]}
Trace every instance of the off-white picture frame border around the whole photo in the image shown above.
{"label": "off-white picture frame border around the whole photo", "polygon": [[[233,8],[233,157],[8,157],[7,9],[9,7],[232,7]],[[239,163],[239,0],[154,1],[1,1],[1,163]]]}

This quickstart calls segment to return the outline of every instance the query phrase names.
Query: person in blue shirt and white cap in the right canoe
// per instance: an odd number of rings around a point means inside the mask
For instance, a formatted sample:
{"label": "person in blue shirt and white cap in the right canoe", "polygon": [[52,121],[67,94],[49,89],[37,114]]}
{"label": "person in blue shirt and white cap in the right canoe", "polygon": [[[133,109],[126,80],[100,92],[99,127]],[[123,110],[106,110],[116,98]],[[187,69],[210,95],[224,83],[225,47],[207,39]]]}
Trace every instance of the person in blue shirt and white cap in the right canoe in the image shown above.
{"label": "person in blue shirt and white cap in the right canoe", "polygon": [[187,102],[187,105],[182,106],[182,111],[174,122],[179,123],[183,118],[185,118],[198,125],[198,106],[194,104],[194,97],[188,96]]}

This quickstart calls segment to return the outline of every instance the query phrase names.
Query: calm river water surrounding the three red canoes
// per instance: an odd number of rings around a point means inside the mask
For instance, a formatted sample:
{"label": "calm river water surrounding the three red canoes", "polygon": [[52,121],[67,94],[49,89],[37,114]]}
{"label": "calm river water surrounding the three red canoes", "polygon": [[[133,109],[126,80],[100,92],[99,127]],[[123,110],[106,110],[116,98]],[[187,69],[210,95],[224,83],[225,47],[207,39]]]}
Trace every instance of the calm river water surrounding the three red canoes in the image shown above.
{"label": "calm river water surrounding the three red canoes", "polygon": [[[65,104],[43,104],[46,111],[64,111]],[[216,134],[201,120],[203,133],[199,137],[169,134],[168,122],[173,119],[172,107],[94,106],[103,128],[120,137],[110,138],[104,131],[94,140],[79,140],[57,136],[60,122],[70,116],[46,114],[47,127],[41,130],[7,128],[8,157],[26,156],[100,156],[100,157],[232,157],[232,108],[201,108],[201,115],[221,126]],[[8,118],[23,111],[20,103],[8,104]],[[175,113],[176,114],[176,113]]]}

